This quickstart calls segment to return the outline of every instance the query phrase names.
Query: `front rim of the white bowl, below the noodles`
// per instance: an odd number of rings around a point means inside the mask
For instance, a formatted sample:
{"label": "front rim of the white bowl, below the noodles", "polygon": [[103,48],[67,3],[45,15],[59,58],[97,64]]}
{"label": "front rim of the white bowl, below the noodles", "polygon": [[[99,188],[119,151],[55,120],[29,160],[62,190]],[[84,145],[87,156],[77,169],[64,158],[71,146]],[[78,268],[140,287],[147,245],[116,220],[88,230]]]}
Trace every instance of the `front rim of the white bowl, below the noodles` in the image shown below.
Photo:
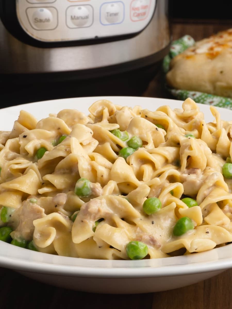
{"label": "front rim of the white bowl, below the noodles", "polygon": [[[4,247],[8,246],[8,248]],[[1,248],[3,247],[3,248]],[[11,248],[15,247],[15,248]],[[232,268],[232,244],[191,255],[151,260],[93,260],[57,256],[0,244],[0,266],[19,271],[92,278],[149,278],[207,273]]]}

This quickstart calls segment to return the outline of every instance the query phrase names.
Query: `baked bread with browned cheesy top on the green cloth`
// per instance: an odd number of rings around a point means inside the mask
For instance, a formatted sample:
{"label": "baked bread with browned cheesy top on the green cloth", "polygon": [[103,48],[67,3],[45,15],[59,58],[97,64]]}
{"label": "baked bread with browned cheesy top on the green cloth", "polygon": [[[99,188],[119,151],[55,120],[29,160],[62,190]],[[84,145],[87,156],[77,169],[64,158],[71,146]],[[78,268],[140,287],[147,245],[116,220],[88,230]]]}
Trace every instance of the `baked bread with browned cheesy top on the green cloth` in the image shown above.
{"label": "baked bread with browned cheesy top on the green cloth", "polygon": [[174,57],[170,87],[232,98],[232,29],[219,32]]}

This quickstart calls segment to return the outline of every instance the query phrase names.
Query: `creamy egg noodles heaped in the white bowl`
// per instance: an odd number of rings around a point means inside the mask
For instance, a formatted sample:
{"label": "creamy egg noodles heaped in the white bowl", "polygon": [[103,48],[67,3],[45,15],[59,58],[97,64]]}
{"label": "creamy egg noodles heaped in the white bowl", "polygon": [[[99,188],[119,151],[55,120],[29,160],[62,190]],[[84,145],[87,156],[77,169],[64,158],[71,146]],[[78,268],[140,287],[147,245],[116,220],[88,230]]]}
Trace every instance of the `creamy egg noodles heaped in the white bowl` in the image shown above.
{"label": "creamy egg noodles heaped in the white bowl", "polygon": [[[64,109],[40,121],[21,111],[12,131],[0,132],[8,242],[90,259],[129,259],[131,242],[151,259],[231,242],[232,180],[222,167],[232,155],[232,121],[210,110],[212,123],[192,99],[153,112],[100,100],[89,116]],[[134,136],[142,145],[120,156]],[[154,197],[161,207],[148,214],[144,202]],[[190,228],[180,225],[177,235],[182,218]]]}

